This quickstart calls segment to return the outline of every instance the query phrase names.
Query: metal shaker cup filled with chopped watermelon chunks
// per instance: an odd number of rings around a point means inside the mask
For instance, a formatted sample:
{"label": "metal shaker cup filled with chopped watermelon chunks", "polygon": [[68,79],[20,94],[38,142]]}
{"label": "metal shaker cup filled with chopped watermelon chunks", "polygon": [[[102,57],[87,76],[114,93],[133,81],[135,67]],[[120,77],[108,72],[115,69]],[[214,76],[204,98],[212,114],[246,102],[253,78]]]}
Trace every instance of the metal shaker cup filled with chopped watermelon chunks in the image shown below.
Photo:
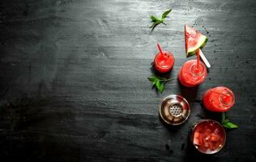
{"label": "metal shaker cup filled with chopped watermelon chunks", "polygon": [[214,154],[224,146],[226,133],[219,122],[203,120],[198,122],[191,132],[194,147],[205,154]]}

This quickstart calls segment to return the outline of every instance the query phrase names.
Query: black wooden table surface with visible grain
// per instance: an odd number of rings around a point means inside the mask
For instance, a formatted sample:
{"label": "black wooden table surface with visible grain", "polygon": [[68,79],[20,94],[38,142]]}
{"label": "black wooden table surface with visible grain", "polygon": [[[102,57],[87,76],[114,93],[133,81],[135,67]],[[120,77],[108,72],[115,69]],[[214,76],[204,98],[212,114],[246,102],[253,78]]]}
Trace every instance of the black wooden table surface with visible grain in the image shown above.
{"label": "black wooden table surface with visible grain", "polygon": [[[150,32],[149,15],[172,8]],[[0,2],[0,161],[256,161],[256,1],[2,0]],[[211,62],[198,87],[181,87],[184,25],[207,35]],[[163,93],[151,89],[156,43],[175,56]],[[222,151],[199,154],[190,126],[220,121],[201,103],[210,87],[230,87]],[[182,126],[161,122],[168,95],[190,101]]]}

